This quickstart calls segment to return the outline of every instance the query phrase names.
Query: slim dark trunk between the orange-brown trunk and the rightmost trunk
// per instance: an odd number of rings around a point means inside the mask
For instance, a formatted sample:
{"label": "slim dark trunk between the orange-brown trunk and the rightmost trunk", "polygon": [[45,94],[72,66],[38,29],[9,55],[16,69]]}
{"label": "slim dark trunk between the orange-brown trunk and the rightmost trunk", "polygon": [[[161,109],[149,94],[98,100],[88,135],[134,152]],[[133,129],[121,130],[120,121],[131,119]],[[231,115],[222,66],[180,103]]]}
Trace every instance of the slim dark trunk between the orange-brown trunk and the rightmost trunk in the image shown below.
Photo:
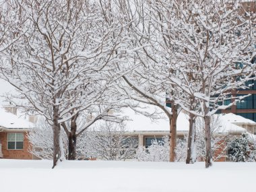
{"label": "slim dark trunk between the orange-brown trunk and the rightmost trunk", "polygon": [[189,138],[187,142],[186,164],[195,162],[195,115],[189,114]]}

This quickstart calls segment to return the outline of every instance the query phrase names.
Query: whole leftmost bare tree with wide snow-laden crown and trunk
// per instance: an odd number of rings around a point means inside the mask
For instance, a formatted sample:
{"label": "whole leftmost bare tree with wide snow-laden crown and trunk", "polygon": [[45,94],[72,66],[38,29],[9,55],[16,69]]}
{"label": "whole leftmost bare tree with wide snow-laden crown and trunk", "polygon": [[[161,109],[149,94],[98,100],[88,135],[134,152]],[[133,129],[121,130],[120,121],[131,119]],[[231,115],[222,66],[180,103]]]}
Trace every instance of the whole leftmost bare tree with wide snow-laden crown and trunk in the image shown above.
{"label": "whole leftmost bare tree with wide snow-laden crown and trunk", "polygon": [[[96,104],[113,81],[110,63],[120,22],[107,26],[96,1],[8,1],[25,33],[5,52],[3,79],[18,88],[18,106],[36,110],[53,127],[53,167],[61,160],[61,123]],[[104,69],[104,70],[103,70]],[[102,102],[98,101],[98,102]],[[75,126],[75,125],[74,125]],[[72,132],[73,133],[73,132]]]}

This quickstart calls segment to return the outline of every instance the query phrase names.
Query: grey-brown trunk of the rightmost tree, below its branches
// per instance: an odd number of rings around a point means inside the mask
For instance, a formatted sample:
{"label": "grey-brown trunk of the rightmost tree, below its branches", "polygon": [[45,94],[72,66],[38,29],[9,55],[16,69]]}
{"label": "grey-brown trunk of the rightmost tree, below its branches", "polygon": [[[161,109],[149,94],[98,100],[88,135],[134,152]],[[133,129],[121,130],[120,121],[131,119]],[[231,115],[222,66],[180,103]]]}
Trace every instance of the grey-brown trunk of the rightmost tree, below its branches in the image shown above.
{"label": "grey-brown trunk of the rightmost tree, below its branches", "polygon": [[205,167],[208,168],[212,165],[212,143],[211,143],[211,126],[210,121],[211,117],[207,114],[209,113],[209,109],[205,110],[205,148],[206,148],[206,154],[205,154]]}

